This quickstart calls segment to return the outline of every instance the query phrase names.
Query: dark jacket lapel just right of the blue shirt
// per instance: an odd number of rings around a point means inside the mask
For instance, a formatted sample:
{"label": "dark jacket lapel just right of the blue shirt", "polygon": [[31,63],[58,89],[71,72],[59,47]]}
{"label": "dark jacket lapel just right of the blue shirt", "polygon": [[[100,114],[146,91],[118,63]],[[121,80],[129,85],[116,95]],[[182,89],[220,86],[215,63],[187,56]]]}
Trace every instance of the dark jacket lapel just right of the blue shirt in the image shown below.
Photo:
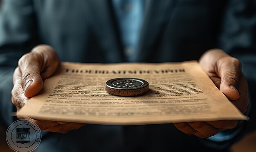
{"label": "dark jacket lapel just right of the blue shirt", "polygon": [[139,46],[135,59],[137,62],[144,62],[152,51],[161,29],[163,30],[174,10],[176,0],[149,0],[146,2],[144,23],[139,39]]}

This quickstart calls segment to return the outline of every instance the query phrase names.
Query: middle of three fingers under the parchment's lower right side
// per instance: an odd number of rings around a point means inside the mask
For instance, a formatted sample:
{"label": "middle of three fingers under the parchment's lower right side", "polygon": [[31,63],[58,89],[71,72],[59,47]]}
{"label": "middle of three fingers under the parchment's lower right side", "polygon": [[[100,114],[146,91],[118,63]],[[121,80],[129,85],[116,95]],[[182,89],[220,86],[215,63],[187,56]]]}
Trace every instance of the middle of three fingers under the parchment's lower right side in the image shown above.
{"label": "middle of three fingers under the parchment's lower right side", "polygon": [[220,129],[214,128],[209,123],[206,122],[189,122],[189,125],[200,132],[204,137],[211,137],[217,134]]}

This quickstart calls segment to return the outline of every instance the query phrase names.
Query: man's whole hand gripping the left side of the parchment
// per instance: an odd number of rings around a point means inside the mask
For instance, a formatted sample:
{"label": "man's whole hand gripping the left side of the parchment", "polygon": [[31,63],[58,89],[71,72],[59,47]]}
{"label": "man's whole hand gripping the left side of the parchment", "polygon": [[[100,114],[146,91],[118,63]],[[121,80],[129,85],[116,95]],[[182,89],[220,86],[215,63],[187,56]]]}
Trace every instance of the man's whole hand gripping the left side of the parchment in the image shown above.
{"label": "man's whole hand gripping the left side of the parchment", "polygon": [[[43,81],[55,73],[58,64],[57,54],[48,45],[36,46],[30,53],[20,58],[18,67],[13,73],[14,86],[11,91],[11,101],[17,110],[24,106],[30,97],[42,90]],[[19,117],[19,119],[29,119],[41,130],[59,133],[66,133],[84,125],[83,123],[34,120],[29,117]]]}

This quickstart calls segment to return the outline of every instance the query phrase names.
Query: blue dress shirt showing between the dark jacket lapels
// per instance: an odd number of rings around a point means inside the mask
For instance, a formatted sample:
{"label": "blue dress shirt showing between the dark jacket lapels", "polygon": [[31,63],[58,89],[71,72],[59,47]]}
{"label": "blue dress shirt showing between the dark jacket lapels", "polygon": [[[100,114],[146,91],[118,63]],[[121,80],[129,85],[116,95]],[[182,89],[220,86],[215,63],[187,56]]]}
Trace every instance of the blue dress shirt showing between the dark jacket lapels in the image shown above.
{"label": "blue dress shirt showing between the dark jacket lapels", "polygon": [[112,0],[126,61],[135,62],[144,19],[144,0]]}

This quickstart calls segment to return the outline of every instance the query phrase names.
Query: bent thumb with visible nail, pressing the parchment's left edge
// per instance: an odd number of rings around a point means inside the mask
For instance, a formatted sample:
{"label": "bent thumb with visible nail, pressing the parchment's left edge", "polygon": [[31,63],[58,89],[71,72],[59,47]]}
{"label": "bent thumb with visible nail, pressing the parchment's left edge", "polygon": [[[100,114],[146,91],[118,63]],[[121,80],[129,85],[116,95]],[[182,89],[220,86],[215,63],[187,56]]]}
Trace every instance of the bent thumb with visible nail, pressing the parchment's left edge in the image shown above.
{"label": "bent thumb with visible nail, pressing the parchment's left edge", "polygon": [[52,47],[40,45],[20,58],[21,86],[26,97],[33,97],[42,90],[43,79],[52,75],[58,66],[56,56]]}

